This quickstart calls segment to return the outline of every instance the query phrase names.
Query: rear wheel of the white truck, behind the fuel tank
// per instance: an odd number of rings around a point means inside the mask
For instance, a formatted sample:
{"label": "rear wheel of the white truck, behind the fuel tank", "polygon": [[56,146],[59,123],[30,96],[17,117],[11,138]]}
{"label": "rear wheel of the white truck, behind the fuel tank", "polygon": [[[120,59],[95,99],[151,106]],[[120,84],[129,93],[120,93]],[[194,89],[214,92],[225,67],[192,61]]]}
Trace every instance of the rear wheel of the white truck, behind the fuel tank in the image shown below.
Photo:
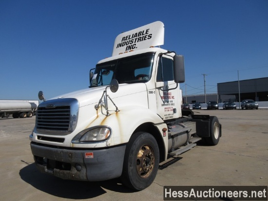
{"label": "rear wheel of the white truck, behind the fuel tank", "polygon": [[211,123],[211,133],[209,138],[205,138],[205,141],[210,145],[217,145],[221,136],[220,123],[217,117],[210,117]]}

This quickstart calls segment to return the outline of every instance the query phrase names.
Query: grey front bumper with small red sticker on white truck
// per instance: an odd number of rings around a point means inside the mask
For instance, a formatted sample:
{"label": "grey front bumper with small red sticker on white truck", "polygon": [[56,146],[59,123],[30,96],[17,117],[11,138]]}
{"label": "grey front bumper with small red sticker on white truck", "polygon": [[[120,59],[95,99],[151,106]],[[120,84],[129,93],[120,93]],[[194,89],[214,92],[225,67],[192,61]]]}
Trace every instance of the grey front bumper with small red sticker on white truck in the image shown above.
{"label": "grey front bumper with small red sticker on white truck", "polygon": [[31,142],[38,170],[66,180],[104,181],[121,176],[126,145],[103,149],[48,147]]}

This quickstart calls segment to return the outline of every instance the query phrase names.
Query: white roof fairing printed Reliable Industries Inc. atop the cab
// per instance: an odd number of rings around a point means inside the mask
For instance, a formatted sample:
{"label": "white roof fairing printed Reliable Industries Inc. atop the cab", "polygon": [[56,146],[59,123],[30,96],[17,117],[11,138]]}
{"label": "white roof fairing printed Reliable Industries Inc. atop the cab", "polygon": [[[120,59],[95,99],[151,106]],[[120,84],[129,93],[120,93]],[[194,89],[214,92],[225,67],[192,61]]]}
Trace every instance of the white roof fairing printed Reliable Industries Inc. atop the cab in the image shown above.
{"label": "white roof fairing printed Reliable Industries Inc. atop the cab", "polygon": [[115,39],[113,55],[130,50],[144,49],[164,44],[164,24],[155,21],[131,31],[119,34]]}

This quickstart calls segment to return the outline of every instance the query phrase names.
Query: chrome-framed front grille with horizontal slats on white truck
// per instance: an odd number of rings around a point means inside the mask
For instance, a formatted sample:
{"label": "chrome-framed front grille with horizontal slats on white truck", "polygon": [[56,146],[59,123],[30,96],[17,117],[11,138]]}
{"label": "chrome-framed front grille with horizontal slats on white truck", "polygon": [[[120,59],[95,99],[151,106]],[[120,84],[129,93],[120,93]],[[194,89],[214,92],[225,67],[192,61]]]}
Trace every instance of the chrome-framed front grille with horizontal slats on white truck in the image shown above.
{"label": "chrome-framed front grille with horizontal slats on white truck", "polygon": [[66,135],[77,124],[78,101],[76,99],[50,100],[39,104],[36,128],[40,133]]}

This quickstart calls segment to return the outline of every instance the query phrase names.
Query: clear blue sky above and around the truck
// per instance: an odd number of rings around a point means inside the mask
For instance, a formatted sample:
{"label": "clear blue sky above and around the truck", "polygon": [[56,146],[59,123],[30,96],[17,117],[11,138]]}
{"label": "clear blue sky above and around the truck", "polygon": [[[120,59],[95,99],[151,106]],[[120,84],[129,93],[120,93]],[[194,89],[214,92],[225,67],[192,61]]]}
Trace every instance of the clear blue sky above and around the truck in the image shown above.
{"label": "clear blue sky above and around the truck", "polygon": [[165,25],[161,47],[184,55],[185,95],[268,77],[268,0],[0,0],[0,100],[87,88],[121,32]]}

